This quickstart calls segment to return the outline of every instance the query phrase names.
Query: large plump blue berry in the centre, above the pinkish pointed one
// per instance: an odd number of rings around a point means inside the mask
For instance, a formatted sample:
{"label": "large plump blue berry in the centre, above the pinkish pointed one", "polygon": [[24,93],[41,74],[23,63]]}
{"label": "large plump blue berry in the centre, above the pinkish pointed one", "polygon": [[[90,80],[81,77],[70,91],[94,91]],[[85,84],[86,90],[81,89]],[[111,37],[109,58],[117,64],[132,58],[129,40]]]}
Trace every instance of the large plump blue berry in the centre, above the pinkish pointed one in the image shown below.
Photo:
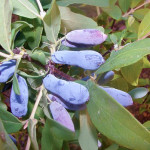
{"label": "large plump blue berry in the centre, above the pinkish pointed one", "polygon": [[70,104],[82,105],[89,99],[86,87],[79,83],[58,79],[52,74],[48,74],[43,79],[43,84],[48,91]]}

